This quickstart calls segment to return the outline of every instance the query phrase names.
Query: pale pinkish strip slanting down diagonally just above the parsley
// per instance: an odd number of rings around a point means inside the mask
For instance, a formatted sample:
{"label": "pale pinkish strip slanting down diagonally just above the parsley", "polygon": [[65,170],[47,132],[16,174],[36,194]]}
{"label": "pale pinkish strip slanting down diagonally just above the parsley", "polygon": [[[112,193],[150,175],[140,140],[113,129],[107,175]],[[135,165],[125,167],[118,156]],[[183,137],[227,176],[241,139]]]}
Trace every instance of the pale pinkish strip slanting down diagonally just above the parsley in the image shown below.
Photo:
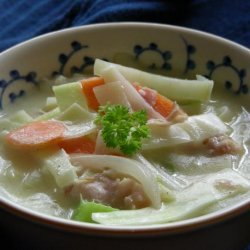
{"label": "pale pinkish strip slanting down diagonally just above the parsley", "polygon": [[101,72],[101,76],[104,78],[106,83],[116,82],[120,84],[124,89],[124,93],[134,111],[146,110],[148,116],[150,118],[165,118],[156,112],[144,99],[143,97],[136,91],[134,86],[126,79],[124,76],[114,67],[108,67]]}

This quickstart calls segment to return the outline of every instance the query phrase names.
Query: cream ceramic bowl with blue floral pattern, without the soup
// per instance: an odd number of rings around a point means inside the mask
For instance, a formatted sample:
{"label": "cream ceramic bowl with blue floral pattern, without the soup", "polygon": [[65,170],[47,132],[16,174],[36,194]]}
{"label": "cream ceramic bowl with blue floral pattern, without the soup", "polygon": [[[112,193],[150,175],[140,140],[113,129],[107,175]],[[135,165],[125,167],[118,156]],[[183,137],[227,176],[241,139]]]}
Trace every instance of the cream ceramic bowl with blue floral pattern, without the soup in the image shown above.
{"label": "cream ceramic bowl with blue floral pattern, without the soup", "polygon": [[[250,109],[249,49],[212,34],[153,23],[106,23],[45,34],[0,54],[0,107],[55,75],[91,73],[95,58],[179,78],[204,75]],[[155,226],[112,227],[37,213],[0,197],[1,227],[13,244],[37,248],[242,249],[250,199],[200,217]],[[32,241],[30,240],[32,238]],[[8,244],[10,244],[8,242]]]}

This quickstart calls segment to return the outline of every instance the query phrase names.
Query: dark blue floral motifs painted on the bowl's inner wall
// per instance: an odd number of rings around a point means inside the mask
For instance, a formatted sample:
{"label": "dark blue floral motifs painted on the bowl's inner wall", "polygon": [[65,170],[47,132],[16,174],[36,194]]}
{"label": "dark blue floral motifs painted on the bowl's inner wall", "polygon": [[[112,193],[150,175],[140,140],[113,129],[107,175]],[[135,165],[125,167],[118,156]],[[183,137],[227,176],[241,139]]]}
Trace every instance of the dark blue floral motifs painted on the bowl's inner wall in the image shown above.
{"label": "dark blue floral motifs painted on the bowl's inner wall", "polygon": [[[183,69],[183,73],[187,74],[191,70],[196,69],[196,56],[198,56],[198,49],[194,44],[190,44],[186,38],[183,36],[180,36],[180,40],[184,44],[184,50],[183,53],[186,54],[186,62],[185,67]],[[94,64],[95,57],[86,55],[85,51],[90,48],[91,45],[87,45],[84,43],[81,43],[79,41],[72,41],[70,44],[70,50],[61,52],[59,55],[55,55],[55,58],[58,60],[58,69],[51,72],[52,76],[56,75],[64,75],[66,66],[70,67],[70,73],[85,73],[85,70],[89,67],[92,67]],[[148,45],[143,46],[139,43],[136,43],[131,48],[131,55],[135,59],[135,61],[138,61],[138,59],[147,52],[152,52],[161,57],[162,63],[160,65],[160,69],[165,70],[166,72],[169,72],[173,70],[173,65],[171,60],[175,56],[175,52],[171,51],[166,48],[161,48],[156,42],[149,42]],[[79,65],[74,65],[71,60],[76,54],[81,53],[82,56],[82,62]],[[103,58],[107,61],[112,61],[107,58]],[[157,69],[155,62],[150,62],[149,68],[151,70]],[[236,65],[234,65],[233,60],[229,55],[225,55],[221,62],[215,62],[212,59],[208,59],[206,61],[205,68],[207,69],[207,72],[200,72],[200,74],[203,74],[205,77],[213,79],[214,73],[218,70],[222,70],[223,68],[227,68],[232,70],[238,79],[237,83],[232,83],[230,80],[224,79],[224,86],[225,89],[234,92],[235,94],[248,94],[249,88],[247,84],[245,83],[246,78],[246,69],[244,68],[238,68]],[[28,74],[23,75],[19,72],[19,70],[13,69],[9,72],[9,79],[1,79],[0,78],[0,108],[3,108],[3,96],[6,93],[7,88],[9,88],[11,85],[17,83],[20,80],[23,80],[26,84],[33,84],[38,85],[38,81],[36,79],[37,73],[35,71],[30,71]],[[237,90],[233,90],[232,86],[233,84],[237,84]],[[16,90],[15,92],[10,92],[8,94],[9,102],[13,103],[17,98],[22,97],[25,95],[24,89]]]}

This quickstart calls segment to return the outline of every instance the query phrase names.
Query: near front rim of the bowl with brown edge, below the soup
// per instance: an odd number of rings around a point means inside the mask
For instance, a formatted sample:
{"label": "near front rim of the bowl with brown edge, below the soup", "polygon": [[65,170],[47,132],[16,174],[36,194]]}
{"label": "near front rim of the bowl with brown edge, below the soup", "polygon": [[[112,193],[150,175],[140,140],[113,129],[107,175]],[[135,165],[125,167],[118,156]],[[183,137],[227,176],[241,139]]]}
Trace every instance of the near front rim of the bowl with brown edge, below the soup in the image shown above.
{"label": "near front rim of the bowl with brown edge, below the soup", "polygon": [[223,208],[191,219],[145,226],[108,226],[73,221],[33,211],[3,197],[0,197],[0,208],[4,209],[7,213],[22,218],[30,223],[59,229],[65,232],[95,236],[153,237],[188,233],[209,226],[215,226],[219,223],[225,223],[230,219],[249,212],[250,200],[241,201],[240,203],[231,206],[230,209]]}

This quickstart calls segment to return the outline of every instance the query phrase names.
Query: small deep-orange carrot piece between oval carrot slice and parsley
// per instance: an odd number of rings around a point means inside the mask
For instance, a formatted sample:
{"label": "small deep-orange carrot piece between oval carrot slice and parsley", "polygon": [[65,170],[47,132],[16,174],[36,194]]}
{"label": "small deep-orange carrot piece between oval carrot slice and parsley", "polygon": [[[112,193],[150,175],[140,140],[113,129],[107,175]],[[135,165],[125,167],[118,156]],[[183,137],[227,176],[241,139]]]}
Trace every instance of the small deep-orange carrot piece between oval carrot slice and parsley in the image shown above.
{"label": "small deep-orange carrot piece between oval carrot slice and parsley", "polygon": [[95,151],[95,141],[86,136],[60,141],[58,146],[63,148],[68,154],[93,154]]}

